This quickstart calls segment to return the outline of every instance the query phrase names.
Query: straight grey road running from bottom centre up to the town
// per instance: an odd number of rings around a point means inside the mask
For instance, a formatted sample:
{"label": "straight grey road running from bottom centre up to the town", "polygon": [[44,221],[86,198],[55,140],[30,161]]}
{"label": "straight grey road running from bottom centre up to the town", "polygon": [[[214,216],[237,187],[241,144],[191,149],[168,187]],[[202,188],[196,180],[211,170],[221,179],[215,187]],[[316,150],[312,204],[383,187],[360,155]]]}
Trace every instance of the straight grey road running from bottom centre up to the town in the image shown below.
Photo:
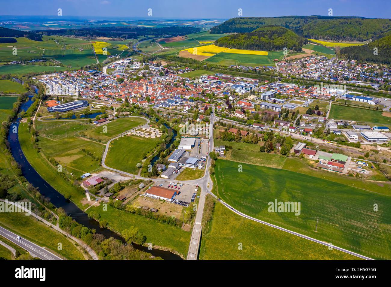
{"label": "straight grey road running from bottom centre up to the town", "polygon": [[[213,107],[213,113],[210,116],[210,125],[209,125],[209,153],[213,152],[213,114],[214,114],[214,107]],[[213,182],[209,178],[209,169],[210,169],[210,162],[211,158],[208,157],[208,163],[205,167],[205,175],[202,178],[202,184],[199,185],[201,187],[201,195],[198,201],[197,205],[197,214],[195,215],[194,225],[193,225],[193,231],[192,236],[190,238],[190,245],[187,253],[187,260],[197,260],[198,258],[198,250],[199,245],[201,243],[201,234],[202,234],[202,217],[204,213],[204,205],[205,205],[205,198],[206,194],[208,193],[208,183],[209,188],[212,189]]]}

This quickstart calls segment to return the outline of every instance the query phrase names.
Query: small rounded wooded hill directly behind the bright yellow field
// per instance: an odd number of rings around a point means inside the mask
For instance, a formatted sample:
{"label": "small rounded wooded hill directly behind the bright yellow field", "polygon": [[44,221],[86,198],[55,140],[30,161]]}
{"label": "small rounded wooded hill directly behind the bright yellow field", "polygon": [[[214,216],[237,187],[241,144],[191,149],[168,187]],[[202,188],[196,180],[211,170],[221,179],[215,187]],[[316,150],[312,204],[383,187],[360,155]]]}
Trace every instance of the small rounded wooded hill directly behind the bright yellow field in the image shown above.
{"label": "small rounded wooded hill directly behind the bright yellow field", "polygon": [[291,30],[280,26],[265,26],[249,33],[237,33],[222,37],[215,41],[220,47],[246,50],[283,50],[283,48],[301,51],[307,42]]}

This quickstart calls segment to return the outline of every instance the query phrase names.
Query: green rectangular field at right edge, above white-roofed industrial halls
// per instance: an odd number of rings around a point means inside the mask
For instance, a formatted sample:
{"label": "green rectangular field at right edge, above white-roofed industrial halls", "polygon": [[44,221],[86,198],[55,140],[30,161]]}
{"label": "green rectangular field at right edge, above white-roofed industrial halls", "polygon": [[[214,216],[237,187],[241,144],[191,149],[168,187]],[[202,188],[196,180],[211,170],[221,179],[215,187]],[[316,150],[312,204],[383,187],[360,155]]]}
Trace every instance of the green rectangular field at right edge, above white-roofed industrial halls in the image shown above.
{"label": "green rectangular field at right edge, above white-roofed industrial halls", "polygon": [[[388,116],[384,116],[388,115]],[[357,121],[368,125],[391,125],[391,112],[376,111],[375,108],[360,109],[343,105],[331,105],[329,118]]]}

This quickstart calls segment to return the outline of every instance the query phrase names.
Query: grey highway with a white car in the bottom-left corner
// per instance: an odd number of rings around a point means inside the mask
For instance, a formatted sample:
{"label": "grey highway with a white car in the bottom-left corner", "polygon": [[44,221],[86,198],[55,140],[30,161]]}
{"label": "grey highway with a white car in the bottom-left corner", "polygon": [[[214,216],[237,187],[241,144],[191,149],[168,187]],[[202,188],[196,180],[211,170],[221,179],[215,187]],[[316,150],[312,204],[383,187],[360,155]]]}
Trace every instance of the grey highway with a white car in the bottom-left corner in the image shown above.
{"label": "grey highway with a white car in the bottom-left corner", "polygon": [[24,238],[18,239],[17,238],[18,235],[14,234],[13,232],[3,227],[0,227],[0,235],[4,236],[9,241],[22,247],[23,249],[29,251],[29,253],[32,253],[34,255],[34,257],[41,258],[42,260],[63,260],[57,255],[54,255],[50,251],[47,251],[46,249],[28,241],[27,239]]}

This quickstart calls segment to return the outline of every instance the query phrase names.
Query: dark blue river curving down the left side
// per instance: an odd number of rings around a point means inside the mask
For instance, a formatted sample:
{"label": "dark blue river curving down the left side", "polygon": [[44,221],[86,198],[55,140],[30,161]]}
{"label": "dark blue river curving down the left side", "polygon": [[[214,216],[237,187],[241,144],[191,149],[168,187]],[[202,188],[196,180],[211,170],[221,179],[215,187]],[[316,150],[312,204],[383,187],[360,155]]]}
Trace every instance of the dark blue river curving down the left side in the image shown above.
{"label": "dark blue river curving down the left side", "polygon": [[[26,111],[30,105],[32,105],[32,101],[28,100],[22,105],[20,105],[20,111]],[[13,126],[17,126],[17,131],[19,130],[19,123],[20,118],[16,119],[13,123],[11,123],[10,131],[12,131]],[[11,148],[11,153],[20,165],[20,168],[22,169],[22,174],[26,178],[30,184],[32,184],[34,187],[39,189],[39,192],[49,198],[50,202],[53,203],[57,208],[62,207],[65,212],[70,215],[75,221],[78,223],[91,228],[95,229],[97,233],[103,234],[106,238],[114,237],[115,239],[119,239],[120,241],[125,243],[125,240],[117,233],[109,230],[108,228],[100,228],[99,223],[95,219],[88,218],[87,214],[83,212],[77,205],[75,205],[72,201],[67,200],[61,193],[56,191],[51,185],[49,185],[37,172],[36,170],[30,165],[28,160],[26,159],[25,155],[23,154],[22,148],[20,147],[18,133],[9,132],[8,134],[8,141]],[[162,234],[161,236],[164,236]],[[175,239],[172,239],[175,240]],[[176,255],[174,253],[171,253],[170,251],[162,251],[158,249],[152,249],[148,250],[146,246],[140,246],[138,244],[133,244],[133,247],[135,247],[138,250],[145,251],[147,253],[150,253],[153,256],[161,257],[165,260],[182,260],[182,258],[179,255]]]}

